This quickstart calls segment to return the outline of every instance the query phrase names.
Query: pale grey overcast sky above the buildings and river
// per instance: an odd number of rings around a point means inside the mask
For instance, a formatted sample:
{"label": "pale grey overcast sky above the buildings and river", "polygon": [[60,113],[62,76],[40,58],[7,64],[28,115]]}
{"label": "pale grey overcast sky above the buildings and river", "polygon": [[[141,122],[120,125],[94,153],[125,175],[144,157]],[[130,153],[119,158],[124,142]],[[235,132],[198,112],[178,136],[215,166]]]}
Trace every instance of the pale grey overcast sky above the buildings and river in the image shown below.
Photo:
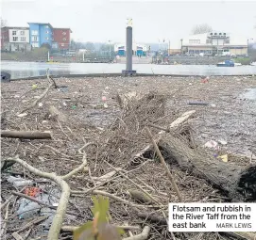
{"label": "pale grey overcast sky above the buildings and river", "polygon": [[1,0],[2,18],[9,26],[28,22],[70,27],[81,41],[125,42],[127,19],[132,18],[137,42],[170,40],[189,35],[194,25],[256,39],[254,1],[146,0]]}

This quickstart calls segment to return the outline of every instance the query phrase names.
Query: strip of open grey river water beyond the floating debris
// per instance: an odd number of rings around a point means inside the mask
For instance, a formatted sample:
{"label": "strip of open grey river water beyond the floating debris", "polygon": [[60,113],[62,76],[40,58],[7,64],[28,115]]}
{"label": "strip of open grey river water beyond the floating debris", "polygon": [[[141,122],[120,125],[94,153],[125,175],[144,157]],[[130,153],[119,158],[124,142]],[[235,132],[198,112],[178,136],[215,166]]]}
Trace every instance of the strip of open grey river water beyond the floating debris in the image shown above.
{"label": "strip of open grey river water beyond the floating debris", "polygon": [[[125,64],[109,63],[44,63],[2,61],[1,71],[9,72],[11,79],[50,74],[88,74],[88,73],[121,73]],[[178,75],[247,75],[256,74],[256,66],[216,67],[214,65],[155,65],[133,64],[138,73],[178,74]]]}

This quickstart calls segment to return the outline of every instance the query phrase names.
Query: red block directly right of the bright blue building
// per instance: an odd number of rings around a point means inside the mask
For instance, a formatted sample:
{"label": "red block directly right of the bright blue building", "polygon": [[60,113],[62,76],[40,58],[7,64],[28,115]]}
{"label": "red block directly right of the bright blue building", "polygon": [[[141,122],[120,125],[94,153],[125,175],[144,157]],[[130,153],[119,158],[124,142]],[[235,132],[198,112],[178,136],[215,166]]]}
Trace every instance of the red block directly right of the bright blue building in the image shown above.
{"label": "red block directly right of the bright blue building", "polygon": [[68,50],[70,47],[70,28],[53,28],[53,48],[60,50]]}

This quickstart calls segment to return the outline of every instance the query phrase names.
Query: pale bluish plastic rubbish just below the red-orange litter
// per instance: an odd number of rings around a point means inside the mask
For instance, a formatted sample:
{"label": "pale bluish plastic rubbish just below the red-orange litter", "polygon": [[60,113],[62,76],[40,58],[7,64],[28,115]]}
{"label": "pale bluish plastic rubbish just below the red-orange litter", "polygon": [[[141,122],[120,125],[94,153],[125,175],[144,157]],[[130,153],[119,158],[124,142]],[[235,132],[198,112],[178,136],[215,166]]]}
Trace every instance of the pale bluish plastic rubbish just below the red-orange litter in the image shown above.
{"label": "pale bluish plastic rubbish just below the red-orange litter", "polygon": [[35,201],[22,198],[18,202],[20,203],[17,211],[19,219],[30,218],[40,212],[41,206]]}

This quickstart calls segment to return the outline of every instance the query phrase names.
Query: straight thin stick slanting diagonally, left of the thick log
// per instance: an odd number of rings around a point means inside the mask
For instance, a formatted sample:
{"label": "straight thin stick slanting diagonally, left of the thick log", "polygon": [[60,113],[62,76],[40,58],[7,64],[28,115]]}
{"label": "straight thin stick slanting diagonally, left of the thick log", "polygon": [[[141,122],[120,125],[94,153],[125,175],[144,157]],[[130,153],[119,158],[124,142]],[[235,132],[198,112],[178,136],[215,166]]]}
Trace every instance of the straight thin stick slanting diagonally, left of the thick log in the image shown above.
{"label": "straight thin stick slanting diagonally, left of the thick log", "polygon": [[162,167],[165,169],[165,173],[166,173],[167,177],[169,178],[174,190],[176,191],[176,193],[178,195],[179,201],[182,202],[182,197],[181,197],[181,194],[179,192],[179,188],[178,188],[177,184],[175,183],[174,178],[173,178],[168,166],[166,165],[166,163],[165,163],[165,161],[162,157],[162,153],[160,152],[158,145],[156,144],[151,132],[149,131],[149,129],[147,127],[145,128],[145,131],[146,131],[147,135],[149,136],[149,138],[150,138],[150,140],[151,140],[151,142],[154,146],[154,149],[155,149],[155,151],[157,152],[157,154],[160,158],[160,161],[162,163]]}

